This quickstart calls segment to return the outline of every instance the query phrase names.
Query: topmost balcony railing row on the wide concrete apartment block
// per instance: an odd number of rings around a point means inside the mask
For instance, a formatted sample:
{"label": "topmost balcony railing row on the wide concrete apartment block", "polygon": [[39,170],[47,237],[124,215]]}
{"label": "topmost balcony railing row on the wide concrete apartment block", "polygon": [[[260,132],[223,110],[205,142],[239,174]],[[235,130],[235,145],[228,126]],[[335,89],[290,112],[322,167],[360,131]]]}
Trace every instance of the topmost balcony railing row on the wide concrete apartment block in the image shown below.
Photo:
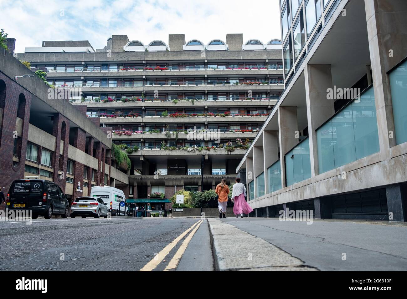
{"label": "topmost balcony railing row on the wide concrete apartment block", "polygon": [[[38,67],[31,67],[31,70],[36,70]],[[43,67],[41,67],[43,68]],[[194,66],[169,66],[169,67],[124,67],[124,68],[69,68],[69,69],[48,69],[50,73],[74,73],[74,72],[133,72],[133,71],[188,71],[188,70],[282,70],[281,65],[269,66],[217,66],[217,67],[194,67]]]}

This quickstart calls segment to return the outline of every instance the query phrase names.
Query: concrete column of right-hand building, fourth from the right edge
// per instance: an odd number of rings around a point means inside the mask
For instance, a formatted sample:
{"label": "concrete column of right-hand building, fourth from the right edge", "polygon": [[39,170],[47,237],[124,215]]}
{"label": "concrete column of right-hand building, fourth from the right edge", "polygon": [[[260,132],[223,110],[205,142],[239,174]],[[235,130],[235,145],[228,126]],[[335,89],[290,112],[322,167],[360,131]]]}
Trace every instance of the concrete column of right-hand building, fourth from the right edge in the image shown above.
{"label": "concrete column of right-hand building, fourth from the right edge", "polygon": [[267,168],[278,160],[278,131],[263,131],[263,159],[266,194],[270,193],[269,175]]}

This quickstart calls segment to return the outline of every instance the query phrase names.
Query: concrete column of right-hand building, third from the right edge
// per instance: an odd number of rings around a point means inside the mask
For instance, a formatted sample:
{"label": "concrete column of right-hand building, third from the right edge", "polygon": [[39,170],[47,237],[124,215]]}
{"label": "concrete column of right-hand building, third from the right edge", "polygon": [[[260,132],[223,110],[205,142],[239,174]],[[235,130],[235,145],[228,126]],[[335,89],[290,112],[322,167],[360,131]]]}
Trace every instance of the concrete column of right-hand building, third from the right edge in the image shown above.
{"label": "concrete column of right-hand building, third from the right edge", "polygon": [[278,131],[280,132],[281,186],[284,188],[286,187],[284,155],[298,144],[298,138],[295,138],[298,131],[297,107],[278,107]]}

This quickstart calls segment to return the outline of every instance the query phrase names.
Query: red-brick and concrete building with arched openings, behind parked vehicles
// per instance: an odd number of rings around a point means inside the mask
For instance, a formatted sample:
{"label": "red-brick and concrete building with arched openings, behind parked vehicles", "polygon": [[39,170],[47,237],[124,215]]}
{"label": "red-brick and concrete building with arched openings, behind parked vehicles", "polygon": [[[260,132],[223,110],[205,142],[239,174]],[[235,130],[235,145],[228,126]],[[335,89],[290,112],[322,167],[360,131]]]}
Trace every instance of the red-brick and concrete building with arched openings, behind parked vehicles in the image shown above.
{"label": "red-brick and concrete building with arched openings, behind parked vehicles", "polygon": [[[31,77],[21,77],[31,74]],[[17,76],[17,80],[15,79]],[[114,167],[112,139],[86,106],[49,99],[48,86],[0,48],[0,186],[6,195],[15,179],[57,183],[68,199],[90,195],[92,186],[128,186]],[[4,209],[4,203],[0,206]]]}

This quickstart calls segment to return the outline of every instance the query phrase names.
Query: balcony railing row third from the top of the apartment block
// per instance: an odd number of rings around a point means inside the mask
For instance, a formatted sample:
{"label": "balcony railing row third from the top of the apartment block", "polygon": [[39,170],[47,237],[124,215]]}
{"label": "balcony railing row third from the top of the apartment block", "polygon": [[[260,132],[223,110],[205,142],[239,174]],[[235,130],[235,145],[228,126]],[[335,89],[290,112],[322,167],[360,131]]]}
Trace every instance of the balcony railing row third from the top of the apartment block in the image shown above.
{"label": "balcony railing row third from the top of the apartment block", "polygon": [[269,100],[278,100],[278,97],[253,97],[253,98],[139,98],[139,97],[132,97],[132,98],[81,98],[81,99],[70,99],[71,103],[77,102],[102,102],[102,103],[128,103],[128,102],[173,102],[174,104],[178,102],[195,102],[195,101],[209,101],[209,102],[233,102],[233,101],[269,101]]}

